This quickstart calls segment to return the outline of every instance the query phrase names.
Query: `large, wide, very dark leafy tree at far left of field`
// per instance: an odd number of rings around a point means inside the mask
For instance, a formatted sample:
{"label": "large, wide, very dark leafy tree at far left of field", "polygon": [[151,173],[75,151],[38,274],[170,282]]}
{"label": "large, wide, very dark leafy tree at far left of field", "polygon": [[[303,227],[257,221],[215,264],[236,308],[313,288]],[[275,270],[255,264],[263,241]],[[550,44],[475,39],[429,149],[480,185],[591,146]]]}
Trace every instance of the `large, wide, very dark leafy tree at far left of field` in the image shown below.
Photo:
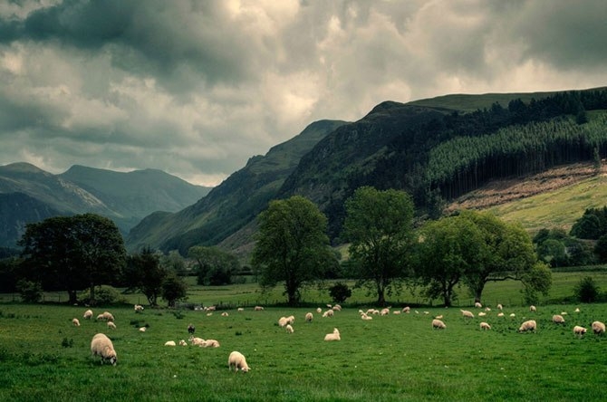
{"label": "large, wide, very dark leafy tree at far left of field", "polygon": [[23,274],[41,282],[45,290],[65,290],[71,303],[76,293],[114,283],[124,265],[126,251],[118,227],[95,214],[57,216],[27,225],[20,240]]}

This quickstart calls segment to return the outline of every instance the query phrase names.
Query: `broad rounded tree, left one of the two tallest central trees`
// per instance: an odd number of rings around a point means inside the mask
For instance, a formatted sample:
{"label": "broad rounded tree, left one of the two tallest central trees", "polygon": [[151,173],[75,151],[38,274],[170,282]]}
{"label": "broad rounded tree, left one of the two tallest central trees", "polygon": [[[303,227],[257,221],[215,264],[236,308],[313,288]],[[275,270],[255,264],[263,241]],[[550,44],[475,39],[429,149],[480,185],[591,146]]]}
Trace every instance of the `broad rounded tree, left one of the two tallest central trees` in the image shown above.
{"label": "broad rounded tree, left one of the two tallest central trees", "polygon": [[274,200],[258,215],[252,263],[262,287],[284,281],[288,303],[299,302],[301,288],[323,277],[337,263],[326,235],[327,218],[303,196]]}

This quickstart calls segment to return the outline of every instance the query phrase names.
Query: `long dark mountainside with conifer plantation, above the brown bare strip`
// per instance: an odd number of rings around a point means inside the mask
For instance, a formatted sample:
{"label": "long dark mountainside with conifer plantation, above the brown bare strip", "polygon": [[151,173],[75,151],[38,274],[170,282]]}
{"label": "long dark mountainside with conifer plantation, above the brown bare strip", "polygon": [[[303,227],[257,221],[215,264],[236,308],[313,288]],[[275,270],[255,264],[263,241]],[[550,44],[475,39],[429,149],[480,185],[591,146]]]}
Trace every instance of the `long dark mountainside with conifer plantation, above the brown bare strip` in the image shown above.
{"label": "long dark mountainside with conifer plantation, above the brown bare strip", "polygon": [[607,155],[606,109],[605,88],[384,101],[319,137],[293,168],[280,170],[280,179],[258,168],[278,158],[273,148],[196,205],[146,217],[127,244],[182,253],[195,244],[220,244],[246,253],[255,215],[268,200],[293,195],[321,208],[339,244],[344,201],[356,188],[405,190],[419,215],[438,216],[450,200],[492,179]]}

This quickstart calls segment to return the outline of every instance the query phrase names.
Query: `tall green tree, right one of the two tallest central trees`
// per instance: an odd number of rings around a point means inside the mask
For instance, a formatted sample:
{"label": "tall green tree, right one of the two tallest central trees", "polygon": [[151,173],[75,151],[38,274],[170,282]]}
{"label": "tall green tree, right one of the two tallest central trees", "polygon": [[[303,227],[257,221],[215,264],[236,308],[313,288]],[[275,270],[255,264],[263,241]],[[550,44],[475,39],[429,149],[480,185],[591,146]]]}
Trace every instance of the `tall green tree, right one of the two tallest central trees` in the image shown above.
{"label": "tall green tree, right one of the two tallest central trees", "polygon": [[343,237],[351,242],[350,256],[357,268],[357,285],[377,294],[400,292],[407,272],[406,253],[412,233],[413,201],[399,190],[360,187],[346,200]]}

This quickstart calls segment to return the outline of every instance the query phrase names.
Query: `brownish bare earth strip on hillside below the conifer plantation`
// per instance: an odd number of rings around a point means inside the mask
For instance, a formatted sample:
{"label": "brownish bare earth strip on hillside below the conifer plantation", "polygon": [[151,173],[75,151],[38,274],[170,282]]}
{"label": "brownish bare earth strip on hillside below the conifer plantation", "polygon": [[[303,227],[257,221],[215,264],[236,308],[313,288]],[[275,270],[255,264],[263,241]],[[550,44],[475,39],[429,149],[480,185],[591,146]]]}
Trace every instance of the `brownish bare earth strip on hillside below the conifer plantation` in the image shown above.
{"label": "brownish bare earth strip on hillside below the conifer plantation", "polygon": [[[603,163],[601,174],[607,173]],[[593,164],[573,164],[552,168],[528,177],[493,180],[485,186],[459,197],[445,210],[447,213],[458,209],[485,209],[499,206],[515,199],[535,196],[562,187],[571,186],[597,174]]]}

